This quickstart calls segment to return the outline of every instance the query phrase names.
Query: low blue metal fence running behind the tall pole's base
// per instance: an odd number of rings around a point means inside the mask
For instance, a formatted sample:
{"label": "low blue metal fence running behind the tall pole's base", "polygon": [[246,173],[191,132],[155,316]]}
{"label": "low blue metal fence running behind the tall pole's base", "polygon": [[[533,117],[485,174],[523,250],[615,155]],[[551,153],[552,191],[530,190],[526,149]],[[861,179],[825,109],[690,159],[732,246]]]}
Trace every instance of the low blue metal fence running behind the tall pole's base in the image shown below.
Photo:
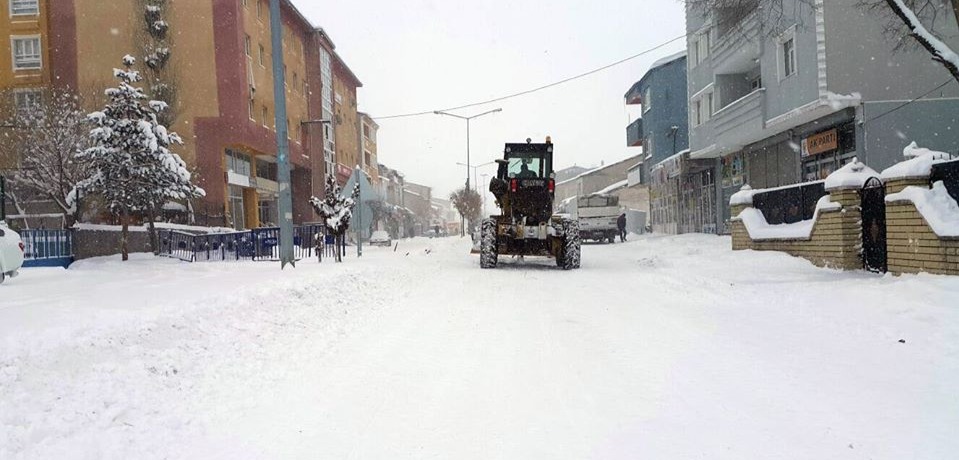
{"label": "low blue metal fence running behind the tall pole's base", "polygon": [[[293,228],[293,256],[305,259],[319,255],[317,237],[325,230],[320,225]],[[280,229],[258,228],[244,232],[194,235],[176,230],[159,234],[160,255],[186,262],[276,261],[280,260]],[[320,245],[320,249],[325,249]]]}

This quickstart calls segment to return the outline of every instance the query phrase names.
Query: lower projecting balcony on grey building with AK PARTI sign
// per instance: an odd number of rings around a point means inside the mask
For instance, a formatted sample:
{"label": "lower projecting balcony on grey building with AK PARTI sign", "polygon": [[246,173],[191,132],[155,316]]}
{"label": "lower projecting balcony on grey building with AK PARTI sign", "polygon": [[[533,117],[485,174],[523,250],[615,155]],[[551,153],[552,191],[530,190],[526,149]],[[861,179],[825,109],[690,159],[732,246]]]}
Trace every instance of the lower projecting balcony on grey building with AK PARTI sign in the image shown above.
{"label": "lower projecting balcony on grey building with AK PARTI sign", "polygon": [[710,123],[721,151],[737,150],[762,139],[766,90],[757,89],[713,114]]}

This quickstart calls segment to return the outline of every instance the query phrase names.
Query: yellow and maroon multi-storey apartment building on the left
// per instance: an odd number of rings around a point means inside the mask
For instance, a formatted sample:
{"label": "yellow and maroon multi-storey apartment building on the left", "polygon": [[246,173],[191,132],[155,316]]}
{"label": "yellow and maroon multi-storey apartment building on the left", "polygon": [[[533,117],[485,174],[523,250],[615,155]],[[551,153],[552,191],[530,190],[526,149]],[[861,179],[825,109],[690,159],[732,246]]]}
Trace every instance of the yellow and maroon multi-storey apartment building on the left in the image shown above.
{"label": "yellow and maroon multi-storey apartment building on the left", "polygon": [[[86,109],[97,108],[120,59],[145,54],[136,37],[150,4],[0,0],[0,30],[10,36],[0,39],[0,59],[12,61],[0,65],[0,89],[13,88],[16,103],[26,104],[42,88],[70,88]],[[284,58],[294,220],[313,220],[308,199],[323,193],[325,174],[343,173],[336,165],[361,156],[361,84],[332,40],[290,0],[281,3],[282,50],[272,47],[268,0],[166,2],[162,15],[177,93],[170,129],[183,137],[176,151],[206,191],[194,203],[197,221],[238,229],[278,222],[274,52]]]}

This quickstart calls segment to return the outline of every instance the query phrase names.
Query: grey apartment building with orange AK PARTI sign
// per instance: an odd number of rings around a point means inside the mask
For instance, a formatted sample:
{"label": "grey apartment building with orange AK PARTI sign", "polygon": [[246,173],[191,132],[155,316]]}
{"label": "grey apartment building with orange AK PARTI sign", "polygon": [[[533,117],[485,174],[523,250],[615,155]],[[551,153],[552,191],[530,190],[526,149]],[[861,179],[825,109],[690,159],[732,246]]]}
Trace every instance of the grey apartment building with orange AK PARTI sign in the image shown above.
{"label": "grey apartment building with orange AK PARTI sign", "polygon": [[[687,7],[689,158],[715,162],[725,231],[743,184],[822,179],[854,157],[882,170],[913,140],[959,150],[959,85],[935,90],[949,74],[921,49],[897,50],[888,17],[856,0],[786,3],[781,16],[757,10],[739,21]],[[942,36],[959,47],[941,8]]]}

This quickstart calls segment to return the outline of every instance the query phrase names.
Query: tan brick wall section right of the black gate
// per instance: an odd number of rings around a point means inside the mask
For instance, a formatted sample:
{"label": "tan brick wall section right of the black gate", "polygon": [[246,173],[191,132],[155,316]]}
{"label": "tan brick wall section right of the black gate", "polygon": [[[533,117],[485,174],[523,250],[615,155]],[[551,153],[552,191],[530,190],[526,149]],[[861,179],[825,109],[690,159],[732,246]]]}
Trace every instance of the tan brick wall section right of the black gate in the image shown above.
{"label": "tan brick wall section right of the black gate", "polygon": [[[907,186],[929,187],[928,179],[904,179],[886,184],[887,196]],[[886,239],[892,273],[959,275],[959,238],[941,238],[908,200],[886,203]]]}

